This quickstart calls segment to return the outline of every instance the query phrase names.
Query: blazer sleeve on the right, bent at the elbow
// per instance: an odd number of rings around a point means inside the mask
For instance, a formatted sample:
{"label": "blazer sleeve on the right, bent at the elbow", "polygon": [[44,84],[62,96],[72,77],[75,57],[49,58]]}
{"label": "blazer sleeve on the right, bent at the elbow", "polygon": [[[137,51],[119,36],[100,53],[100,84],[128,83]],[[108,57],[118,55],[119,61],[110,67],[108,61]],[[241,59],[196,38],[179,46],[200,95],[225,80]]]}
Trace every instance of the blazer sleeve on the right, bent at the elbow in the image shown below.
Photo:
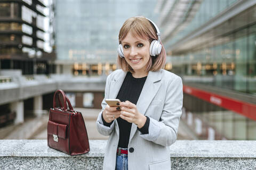
{"label": "blazer sleeve on the right, bent at the elbow", "polygon": [[170,146],[177,139],[180,116],[182,113],[182,80],[176,77],[167,87],[165,103],[159,122],[150,118],[148,134],[140,134],[146,140],[162,146]]}

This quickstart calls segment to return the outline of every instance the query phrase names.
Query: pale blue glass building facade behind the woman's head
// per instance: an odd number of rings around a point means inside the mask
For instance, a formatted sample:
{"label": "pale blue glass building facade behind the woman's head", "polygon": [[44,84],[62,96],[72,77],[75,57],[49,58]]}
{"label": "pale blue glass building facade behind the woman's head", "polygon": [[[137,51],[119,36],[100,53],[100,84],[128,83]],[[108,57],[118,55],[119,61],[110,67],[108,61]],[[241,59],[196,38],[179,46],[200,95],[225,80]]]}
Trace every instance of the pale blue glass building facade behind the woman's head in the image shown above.
{"label": "pale blue glass building facade behind the woman's head", "polygon": [[77,63],[74,70],[83,67],[83,63],[97,67],[99,63],[99,68],[106,63],[116,63],[118,33],[124,21],[141,15],[157,19],[156,3],[146,0],[58,0],[55,9],[58,60]]}

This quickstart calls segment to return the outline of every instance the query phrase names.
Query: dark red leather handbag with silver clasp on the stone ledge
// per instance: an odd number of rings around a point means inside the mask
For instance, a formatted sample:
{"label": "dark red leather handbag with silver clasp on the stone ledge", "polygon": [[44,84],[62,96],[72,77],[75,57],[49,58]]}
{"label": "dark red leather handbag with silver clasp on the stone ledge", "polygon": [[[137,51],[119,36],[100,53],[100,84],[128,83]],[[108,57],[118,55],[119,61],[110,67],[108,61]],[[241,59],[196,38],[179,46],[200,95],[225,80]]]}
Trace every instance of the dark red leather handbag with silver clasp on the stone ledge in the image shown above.
{"label": "dark red leather handbag with silver clasp on the stone ledge", "polygon": [[53,108],[49,111],[47,145],[69,155],[85,154],[90,151],[83,116],[81,112],[73,110],[62,90],[55,91]]}

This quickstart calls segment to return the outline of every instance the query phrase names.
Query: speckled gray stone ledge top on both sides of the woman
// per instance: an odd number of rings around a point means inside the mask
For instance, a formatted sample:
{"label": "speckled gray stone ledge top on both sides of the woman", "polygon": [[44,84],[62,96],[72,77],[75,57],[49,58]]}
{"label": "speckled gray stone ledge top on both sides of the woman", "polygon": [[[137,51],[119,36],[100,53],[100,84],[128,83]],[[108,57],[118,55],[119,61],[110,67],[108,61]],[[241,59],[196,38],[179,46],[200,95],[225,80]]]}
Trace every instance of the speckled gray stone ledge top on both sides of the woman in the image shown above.
{"label": "speckled gray stone ledge top on both sides of the woman", "polygon": [[[106,140],[90,140],[90,152],[75,157],[103,157]],[[70,157],[49,148],[46,140],[0,140],[0,157]],[[256,141],[178,140],[171,157],[256,158]],[[73,156],[74,157],[74,156]]]}

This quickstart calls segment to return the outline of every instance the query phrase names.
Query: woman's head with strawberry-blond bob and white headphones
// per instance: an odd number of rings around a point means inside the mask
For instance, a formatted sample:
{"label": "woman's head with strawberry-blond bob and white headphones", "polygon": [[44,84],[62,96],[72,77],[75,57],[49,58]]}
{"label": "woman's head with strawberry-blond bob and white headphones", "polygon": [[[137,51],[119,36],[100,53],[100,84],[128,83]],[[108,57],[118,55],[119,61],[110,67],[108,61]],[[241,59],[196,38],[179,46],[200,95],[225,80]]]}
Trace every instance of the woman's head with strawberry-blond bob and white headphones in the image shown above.
{"label": "woman's head with strawberry-blond bob and white headphones", "polygon": [[[134,77],[143,77],[149,71],[163,69],[165,65],[166,53],[160,41],[160,32],[152,21],[144,17],[125,21],[119,31],[118,52],[117,64],[124,71],[132,72]],[[138,52],[140,54],[136,54]],[[139,66],[134,65],[137,62]],[[134,73],[134,69],[138,68],[139,72]]]}

